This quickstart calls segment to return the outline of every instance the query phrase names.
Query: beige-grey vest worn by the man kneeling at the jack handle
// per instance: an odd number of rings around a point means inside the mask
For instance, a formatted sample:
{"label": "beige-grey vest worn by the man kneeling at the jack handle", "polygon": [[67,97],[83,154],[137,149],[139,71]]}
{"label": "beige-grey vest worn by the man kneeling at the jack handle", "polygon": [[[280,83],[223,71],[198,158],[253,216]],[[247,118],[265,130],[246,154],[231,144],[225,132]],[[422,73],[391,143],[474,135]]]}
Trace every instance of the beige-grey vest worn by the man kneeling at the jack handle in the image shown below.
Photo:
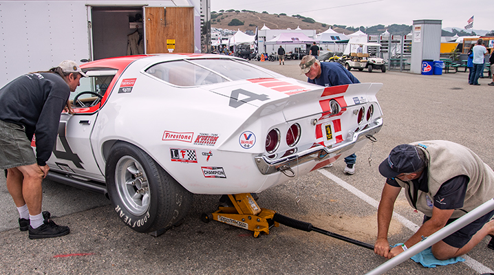
{"label": "beige-grey vest worn by the man kneeling at the jack handle", "polygon": [[[428,160],[427,185],[429,192],[418,190],[416,208],[420,212],[432,217],[433,199],[441,184],[458,175],[466,175],[470,181],[466,188],[463,207],[456,209],[451,218],[462,217],[466,212],[470,212],[489,199],[493,199],[494,172],[469,148],[445,140],[414,142],[411,145],[421,148]],[[411,181],[400,181],[398,178],[396,181],[402,188],[405,188],[407,200],[413,207],[410,194],[412,196],[414,194],[414,184]]]}

